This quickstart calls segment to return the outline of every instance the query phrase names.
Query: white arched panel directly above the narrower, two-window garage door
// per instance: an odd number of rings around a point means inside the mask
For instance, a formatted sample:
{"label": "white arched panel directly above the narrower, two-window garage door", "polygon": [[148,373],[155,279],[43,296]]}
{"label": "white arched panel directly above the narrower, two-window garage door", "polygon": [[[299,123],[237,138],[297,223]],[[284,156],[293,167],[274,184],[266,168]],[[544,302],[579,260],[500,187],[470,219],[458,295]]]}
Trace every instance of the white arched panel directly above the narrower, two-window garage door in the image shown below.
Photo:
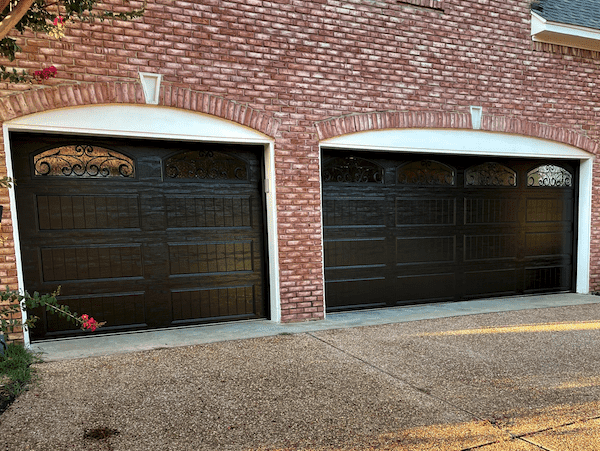
{"label": "white arched panel directly above the narrower, two-window garage door", "polygon": [[150,105],[94,105],[46,111],[6,122],[10,130],[136,136],[229,143],[272,141],[251,128],[208,114]]}

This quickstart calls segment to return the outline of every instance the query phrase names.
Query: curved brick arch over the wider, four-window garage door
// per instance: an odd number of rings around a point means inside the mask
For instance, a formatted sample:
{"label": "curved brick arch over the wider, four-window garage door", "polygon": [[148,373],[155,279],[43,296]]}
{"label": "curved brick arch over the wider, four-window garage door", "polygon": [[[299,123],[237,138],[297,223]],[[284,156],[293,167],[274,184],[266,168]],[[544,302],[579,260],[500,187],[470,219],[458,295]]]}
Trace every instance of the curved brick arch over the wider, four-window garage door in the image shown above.
{"label": "curved brick arch over the wider, four-window garage door", "polygon": [[[372,130],[391,128],[449,128],[472,130],[469,113],[435,111],[382,111],[352,114],[331,118],[316,124],[319,140]],[[482,131],[501,132],[542,138],[578,147],[587,152],[598,153],[598,143],[572,130],[530,122],[524,119],[484,114]]]}

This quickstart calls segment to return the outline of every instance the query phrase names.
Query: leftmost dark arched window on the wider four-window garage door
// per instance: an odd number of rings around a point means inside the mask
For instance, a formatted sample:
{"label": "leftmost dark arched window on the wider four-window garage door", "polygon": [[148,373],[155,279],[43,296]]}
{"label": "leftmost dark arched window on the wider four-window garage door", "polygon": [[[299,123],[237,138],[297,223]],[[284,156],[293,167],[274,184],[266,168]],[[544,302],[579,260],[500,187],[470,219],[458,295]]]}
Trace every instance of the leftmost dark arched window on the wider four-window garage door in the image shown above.
{"label": "leftmost dark arched window on the wider four-window garage door", "polygon": [[334,157],[323,166],[326,183],[383,183],[383,168],[359,157]]}

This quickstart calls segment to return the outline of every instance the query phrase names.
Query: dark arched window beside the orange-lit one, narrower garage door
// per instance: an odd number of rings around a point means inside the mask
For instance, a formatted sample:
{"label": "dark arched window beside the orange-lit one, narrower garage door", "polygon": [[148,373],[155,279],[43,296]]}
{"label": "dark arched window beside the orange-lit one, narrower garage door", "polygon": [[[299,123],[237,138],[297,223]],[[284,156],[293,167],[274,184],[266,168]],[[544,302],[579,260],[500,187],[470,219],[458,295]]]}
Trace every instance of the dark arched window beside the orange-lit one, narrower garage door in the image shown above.
{"label": "dark arched window beside the orange-lit one, narrower garage door", "polygon": [[248,163],[229,153],[189,150],[165,160],[165,178],[194,180],[248,180]]}

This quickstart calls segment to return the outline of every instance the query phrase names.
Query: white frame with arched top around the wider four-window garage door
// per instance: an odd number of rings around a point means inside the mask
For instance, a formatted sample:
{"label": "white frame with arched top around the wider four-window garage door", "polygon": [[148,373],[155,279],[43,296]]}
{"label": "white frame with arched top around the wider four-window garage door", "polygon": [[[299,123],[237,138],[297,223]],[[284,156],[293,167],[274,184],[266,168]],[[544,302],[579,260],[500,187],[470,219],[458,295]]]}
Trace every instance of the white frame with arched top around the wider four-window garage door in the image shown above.
{"label": "white frame with arched top around the wider four-window garage door", "polygon": [[[576,221],[575,291],[589,292],[592,164],[594,156],[554,141],[507,133],[476,130],[387,129],[352,133],[320,142],[323,150],[345,149],[392,154],[444,154],[456,156],[546,158],[579,160]],[[485,149],[485,150],[484,150]],[[321,181],[322,183],[322,181]],[[321,187],[322,188],[322,187]],[[321,189],[321,192],[323,190]],[[323,221],[321,221],[323,224]],[[324,234],[324,230],[322,230]],[[323,255],[324,249],[323,249]],[[323,259],[323,267],[325,262]],[[325,276],[323,275],[323,285]],[[325,299],[325,306],[327,299]]]}

